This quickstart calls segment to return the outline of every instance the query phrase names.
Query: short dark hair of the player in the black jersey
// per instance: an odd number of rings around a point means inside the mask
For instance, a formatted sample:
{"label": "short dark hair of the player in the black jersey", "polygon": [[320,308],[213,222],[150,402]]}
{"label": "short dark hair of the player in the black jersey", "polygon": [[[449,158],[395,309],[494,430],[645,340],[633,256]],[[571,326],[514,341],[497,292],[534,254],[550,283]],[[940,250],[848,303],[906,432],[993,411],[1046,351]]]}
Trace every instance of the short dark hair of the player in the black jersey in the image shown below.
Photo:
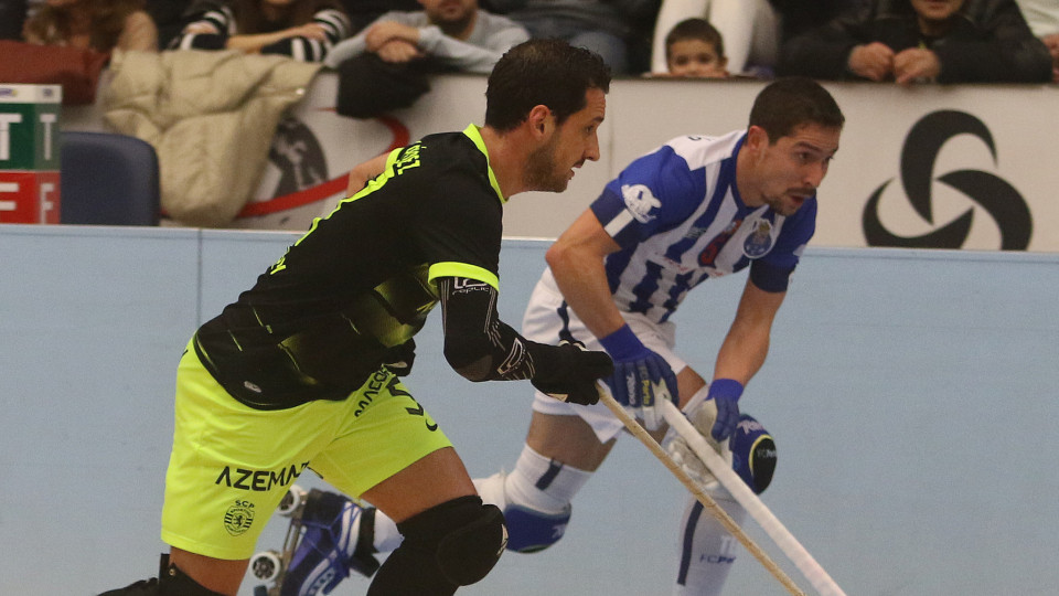
{"label": "short dark hair of the player in the black jersey", "polygon": [[610,91],[610,68],[599,54],[561,40],[530,40],[493,66],[485,87],[485,126],[511,130],[538,105],[563,124],[585,108],[585,93],[593,88]]}

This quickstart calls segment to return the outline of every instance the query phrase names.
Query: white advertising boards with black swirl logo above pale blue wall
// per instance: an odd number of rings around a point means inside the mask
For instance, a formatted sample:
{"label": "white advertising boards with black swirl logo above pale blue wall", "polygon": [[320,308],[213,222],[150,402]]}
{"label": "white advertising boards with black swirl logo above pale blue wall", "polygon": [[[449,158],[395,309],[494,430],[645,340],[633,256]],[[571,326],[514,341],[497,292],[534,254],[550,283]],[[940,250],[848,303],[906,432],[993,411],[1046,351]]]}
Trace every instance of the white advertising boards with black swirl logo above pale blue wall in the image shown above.
{"label": "white advertising boards with black swirl logo above pale blue wall", "polygon": [[[630,160],[670,138],[746,128],[757,81],[619,79],[600,129],[602,159],[567,192],[509,203],[509,236],[555,237]],[[821,189],[816,246],[1059,252],[1059,86],[825,83],[846,115]],[[306,230],[342,196],[356,163],[424,135],[481,124],[485,78],[443,75],[411,108],[359,120],[334,111],[322,73],[280,125],[257,201],[233,224]],[[100,94],[101,96],[101,94]],[[67,109],[64,128],[99,129],[98,107]]]}

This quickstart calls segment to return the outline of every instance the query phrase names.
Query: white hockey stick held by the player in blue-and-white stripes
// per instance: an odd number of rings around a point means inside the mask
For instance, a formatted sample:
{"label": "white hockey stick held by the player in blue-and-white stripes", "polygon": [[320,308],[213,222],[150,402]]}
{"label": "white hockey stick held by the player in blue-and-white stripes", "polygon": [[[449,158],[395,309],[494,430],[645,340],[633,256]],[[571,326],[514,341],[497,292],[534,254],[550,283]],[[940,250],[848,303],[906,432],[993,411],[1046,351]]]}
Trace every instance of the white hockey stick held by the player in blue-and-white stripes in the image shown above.
{"label": "white hockey stick held by the player in blue-and-white stripes", "polygon": [[676,433],[687,441],[695,455],[703,460],[709,471],[725,489],[750,513],[762,530],[775,542],[783,554],[794,563],[798,571],[812,584],[822,596],[846,596],[838,584],[827,575],[827,572],[809,554],[794,535],[769,511],[760,498],[747,487],[731,466],[715,451],[678,407],[668,400],[661,401],[662,416]]}

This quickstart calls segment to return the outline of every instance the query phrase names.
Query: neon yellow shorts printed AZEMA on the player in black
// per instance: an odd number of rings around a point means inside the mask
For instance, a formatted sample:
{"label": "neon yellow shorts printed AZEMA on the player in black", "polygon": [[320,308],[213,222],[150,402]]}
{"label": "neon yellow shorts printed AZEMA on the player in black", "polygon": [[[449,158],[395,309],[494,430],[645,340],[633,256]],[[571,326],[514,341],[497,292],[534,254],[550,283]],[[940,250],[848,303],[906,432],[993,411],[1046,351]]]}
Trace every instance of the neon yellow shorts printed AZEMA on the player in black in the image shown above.
{"label": "neon yellow shorts printed AZEMA on the player in black", "polygon": [[215,558],[247,558],[306,468],[360,497],[451,445],[387,371],[342,402],[259,411],[231,397],[189,347],[176,372],[162,540]]}

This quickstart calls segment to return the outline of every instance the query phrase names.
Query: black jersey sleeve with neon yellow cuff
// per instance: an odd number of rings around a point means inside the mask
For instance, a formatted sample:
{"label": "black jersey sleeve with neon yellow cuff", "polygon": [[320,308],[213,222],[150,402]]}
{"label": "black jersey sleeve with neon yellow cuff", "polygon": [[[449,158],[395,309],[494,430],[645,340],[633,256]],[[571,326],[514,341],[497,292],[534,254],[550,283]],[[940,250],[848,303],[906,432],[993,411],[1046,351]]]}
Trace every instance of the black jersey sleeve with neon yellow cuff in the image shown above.
{"label": "black jersey sleeve with neon yellow cuff", "polygon": [[470,172],[439,177],[417,216],[429,280],[464,277],[499,290],[503,212]]}

